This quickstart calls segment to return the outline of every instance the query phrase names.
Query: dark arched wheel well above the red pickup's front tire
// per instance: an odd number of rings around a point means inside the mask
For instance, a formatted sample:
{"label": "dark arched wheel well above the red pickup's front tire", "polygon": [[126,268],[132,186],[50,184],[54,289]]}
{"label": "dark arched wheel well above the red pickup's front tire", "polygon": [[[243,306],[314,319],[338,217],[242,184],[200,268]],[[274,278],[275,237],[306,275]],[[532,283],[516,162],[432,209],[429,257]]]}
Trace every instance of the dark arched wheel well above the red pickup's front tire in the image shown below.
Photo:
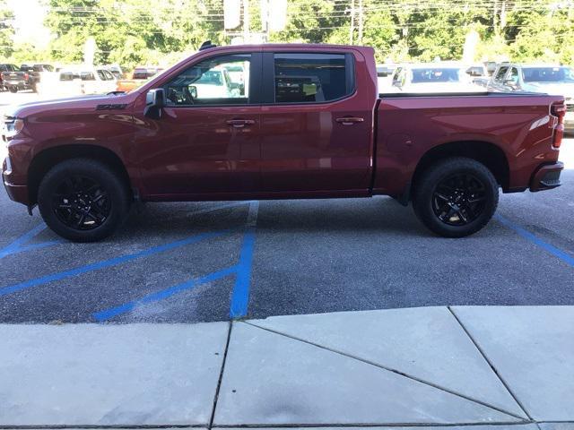
{"label": "dark arched wheel well above the red pickup's front tire", "polygon": [[116,153],[101,146],[95,145],[64,145],[42,150],[30,163],[28,169],[28,193],[30,204],[35,204],[38,199],[38,188],[42,178],[46,176],[50,168],[66,159],[95,159],[109,168],[112,168],[117,174],[126,181],[130,186],[131,182],[127,175],[126,167]]}

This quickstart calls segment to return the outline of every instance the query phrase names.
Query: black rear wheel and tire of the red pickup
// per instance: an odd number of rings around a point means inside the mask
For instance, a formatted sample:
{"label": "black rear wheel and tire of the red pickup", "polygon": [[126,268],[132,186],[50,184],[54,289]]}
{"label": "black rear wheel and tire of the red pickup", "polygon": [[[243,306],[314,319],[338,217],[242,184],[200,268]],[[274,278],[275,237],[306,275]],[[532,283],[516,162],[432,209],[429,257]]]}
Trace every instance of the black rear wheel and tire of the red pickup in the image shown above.
{"label": "black rear wheel and tire of the red pickup", "polygon": [[475,159],[453,157],[427,168],[413,191],[414,213],[439,236],[470,236],[491,220],[499,185]]}

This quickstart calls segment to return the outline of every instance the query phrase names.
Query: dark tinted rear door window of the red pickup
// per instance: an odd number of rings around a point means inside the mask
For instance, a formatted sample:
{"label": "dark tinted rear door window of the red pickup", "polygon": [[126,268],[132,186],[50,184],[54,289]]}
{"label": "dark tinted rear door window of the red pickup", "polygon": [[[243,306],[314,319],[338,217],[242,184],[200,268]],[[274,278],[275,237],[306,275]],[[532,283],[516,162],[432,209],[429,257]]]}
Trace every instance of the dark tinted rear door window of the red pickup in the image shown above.
{"label": "dark tinted rear door window of the red pickup", "polygon": [[275,54],[274,69],[276,103],[341,99],[353,90],[344,54]]}

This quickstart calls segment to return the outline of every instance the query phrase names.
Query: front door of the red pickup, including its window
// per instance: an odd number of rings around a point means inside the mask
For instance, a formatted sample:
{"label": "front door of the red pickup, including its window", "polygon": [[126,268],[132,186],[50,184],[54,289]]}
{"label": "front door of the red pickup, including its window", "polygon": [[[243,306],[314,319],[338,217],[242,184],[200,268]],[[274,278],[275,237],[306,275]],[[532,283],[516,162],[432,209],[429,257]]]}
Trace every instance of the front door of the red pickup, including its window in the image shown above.
{"label": "front door of the red pickup, including its window", "polygon": [[[235,82],[229,66],[239,70]],[[258,52],[213,54],[161,84],[161,118],[135,117],[143,122],[135,147],[146,193],[216,199],[258,191],[260,72]]]}

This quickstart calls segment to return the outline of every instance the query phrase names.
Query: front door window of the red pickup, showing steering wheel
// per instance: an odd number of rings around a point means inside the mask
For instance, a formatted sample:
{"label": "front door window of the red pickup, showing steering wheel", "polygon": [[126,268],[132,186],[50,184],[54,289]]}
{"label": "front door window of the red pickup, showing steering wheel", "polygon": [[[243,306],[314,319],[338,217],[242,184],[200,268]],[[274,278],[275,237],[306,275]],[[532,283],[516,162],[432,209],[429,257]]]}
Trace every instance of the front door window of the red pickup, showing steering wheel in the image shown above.
{"label": "front door window of the red pickup, showing steering wheel", "polygon": [[170,106],[247,105],[250,54],[216,56],[189,67],[164,86]]}

